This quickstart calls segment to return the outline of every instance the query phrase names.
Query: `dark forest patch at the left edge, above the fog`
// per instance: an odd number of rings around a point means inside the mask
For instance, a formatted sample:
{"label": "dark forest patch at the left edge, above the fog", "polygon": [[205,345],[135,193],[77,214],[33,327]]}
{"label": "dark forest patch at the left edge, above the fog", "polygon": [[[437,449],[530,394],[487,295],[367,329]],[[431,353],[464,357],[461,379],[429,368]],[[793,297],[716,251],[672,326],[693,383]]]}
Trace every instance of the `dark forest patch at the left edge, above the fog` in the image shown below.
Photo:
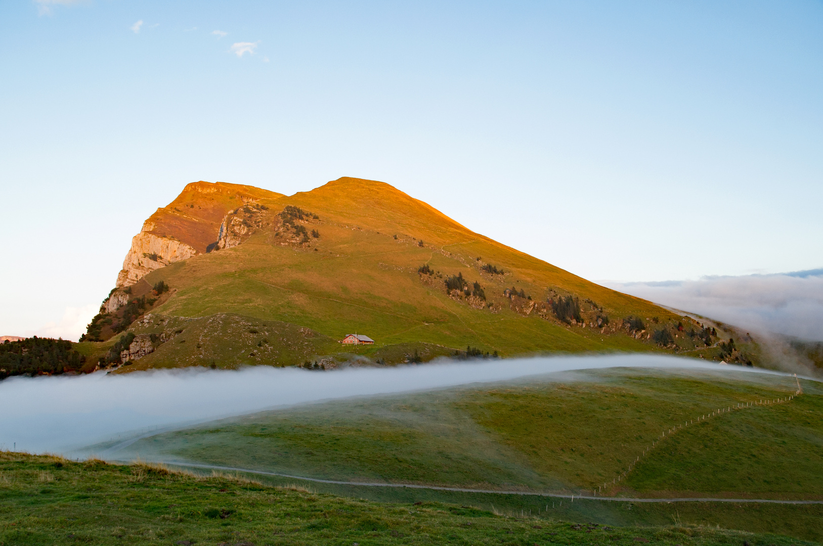
{"label": "dark forest patch at the left edge, above the fog", "polygon": [[16,375],[58,375],[79,372],[86,357],[72,349],[72,342],[30,337],[0,344],[0,380]]}

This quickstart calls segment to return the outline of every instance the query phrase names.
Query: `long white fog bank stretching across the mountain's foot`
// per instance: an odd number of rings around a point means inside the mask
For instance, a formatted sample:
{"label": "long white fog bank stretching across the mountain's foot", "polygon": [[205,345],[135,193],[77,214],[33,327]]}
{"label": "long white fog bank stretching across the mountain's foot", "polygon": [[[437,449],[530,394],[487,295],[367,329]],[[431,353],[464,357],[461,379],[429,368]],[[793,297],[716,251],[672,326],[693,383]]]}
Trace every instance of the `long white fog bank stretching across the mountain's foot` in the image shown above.
{"label": "long white fog bank stretching across the mountain's foot", "polygon": [[278,406],[615,367],[742,369],[695,359],[609,355],[443,361],[330,372],[258,366],[238,371],[180,368],[123,375],[11,377],[0,382],[0,448],[12,449],[16,443],[19,451],[67,454],[120,435]]}

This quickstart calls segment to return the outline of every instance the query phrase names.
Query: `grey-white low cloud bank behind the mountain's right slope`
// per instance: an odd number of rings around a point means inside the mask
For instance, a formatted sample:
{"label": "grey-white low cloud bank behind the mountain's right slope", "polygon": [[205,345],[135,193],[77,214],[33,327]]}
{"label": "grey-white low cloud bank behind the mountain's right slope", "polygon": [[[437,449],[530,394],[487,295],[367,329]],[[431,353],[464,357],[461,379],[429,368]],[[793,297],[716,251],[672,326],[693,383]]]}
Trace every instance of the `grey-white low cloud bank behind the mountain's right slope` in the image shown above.
{"label": "grey-white low cloud bank behind the mountain's right slope", "polygon": [[602,285],[758,332],[823,341],[823,269]]}

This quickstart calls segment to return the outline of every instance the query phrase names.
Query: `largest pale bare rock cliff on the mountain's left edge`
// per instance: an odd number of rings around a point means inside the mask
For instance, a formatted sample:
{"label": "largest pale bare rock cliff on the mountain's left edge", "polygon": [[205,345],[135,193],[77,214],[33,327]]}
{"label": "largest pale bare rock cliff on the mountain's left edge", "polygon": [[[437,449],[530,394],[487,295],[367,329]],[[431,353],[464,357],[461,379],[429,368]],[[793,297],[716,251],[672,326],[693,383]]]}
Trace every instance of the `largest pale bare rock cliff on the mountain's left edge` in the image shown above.
{"label": "largest pale bare rock cliff on the mountain's left edge", "polygon": [[[132,248],[123,260],[123,269],[117,275],[117,287],[130,286],[141,280],[143,275],[168,266],[174,261],[197,256],[200,252],[176,238],[159,237],[151,233],[155,224],[146,220],[140,233],[132,238]],[[117,305],[109,298],[109,303]],[[122,303],[120,303],[122,305]],[[114,308],[115,310],[117,307]]]}

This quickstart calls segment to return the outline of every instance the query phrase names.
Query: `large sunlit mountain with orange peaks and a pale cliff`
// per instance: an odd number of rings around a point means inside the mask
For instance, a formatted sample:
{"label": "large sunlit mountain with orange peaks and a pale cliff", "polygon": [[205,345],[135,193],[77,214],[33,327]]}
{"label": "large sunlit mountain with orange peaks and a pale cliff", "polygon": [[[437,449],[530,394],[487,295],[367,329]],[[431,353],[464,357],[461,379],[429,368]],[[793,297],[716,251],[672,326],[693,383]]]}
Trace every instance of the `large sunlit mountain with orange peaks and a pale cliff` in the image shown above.
{"label": "large sunlit mountain with orange peaks and a pale cliff", "polygon": [[[342,345],[352,333],[374,345]],[[188,184],[146,220],[80,350],[101,367],[335,368],[756,346],[473,232],[387,183]]]}

